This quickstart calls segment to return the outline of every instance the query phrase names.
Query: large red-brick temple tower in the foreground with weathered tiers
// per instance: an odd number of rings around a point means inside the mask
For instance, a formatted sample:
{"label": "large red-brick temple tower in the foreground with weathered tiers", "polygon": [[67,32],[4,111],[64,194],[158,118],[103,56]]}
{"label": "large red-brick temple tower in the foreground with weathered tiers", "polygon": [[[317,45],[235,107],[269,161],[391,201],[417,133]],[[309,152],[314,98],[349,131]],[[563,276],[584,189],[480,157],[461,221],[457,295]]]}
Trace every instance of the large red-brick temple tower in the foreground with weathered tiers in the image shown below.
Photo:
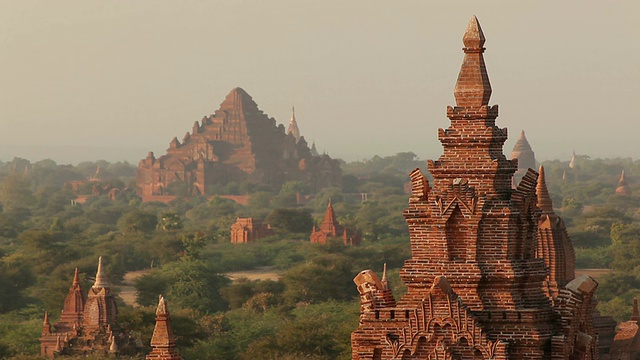
{"label": "large red-brick temple tower in the foreground with weathered tiers", "polygon": [[451,125],[438,130],[444,153],[428,162],[433,186],[410,174],[407,293],[396,300],[371,270],[356,276],[352,359],[597,359],[597,283],[573,278],[566,232],[536,194],[542,177],[528,169],[512,187],[518,161],[503,153],[475,16],[463,43]]}

